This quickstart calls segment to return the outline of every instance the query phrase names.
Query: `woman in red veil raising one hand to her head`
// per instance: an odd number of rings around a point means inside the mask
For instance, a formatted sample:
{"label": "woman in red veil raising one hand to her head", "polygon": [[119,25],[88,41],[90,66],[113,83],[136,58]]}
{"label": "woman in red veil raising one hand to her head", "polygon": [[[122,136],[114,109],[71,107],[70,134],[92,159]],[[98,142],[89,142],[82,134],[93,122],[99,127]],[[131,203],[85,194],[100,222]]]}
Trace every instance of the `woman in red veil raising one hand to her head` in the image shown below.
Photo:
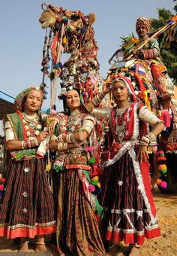
{"label": "woman in red veil raising one hand to her head", "polygon": [[[95,108],[112,90],[116,106]],[[97,117],[110,119],[113,144],[102,175],[101,217],[105,246],[124,240],[132,245],[130,255],[139,255],[145,237],[160,236],[148,175],[147,146],[164,129],[163,123],[144,105],[136,102],[129,79],[116,78],[111,89],[104,86],[87,107]],[[145,123],[154,126],[145,133]]]}

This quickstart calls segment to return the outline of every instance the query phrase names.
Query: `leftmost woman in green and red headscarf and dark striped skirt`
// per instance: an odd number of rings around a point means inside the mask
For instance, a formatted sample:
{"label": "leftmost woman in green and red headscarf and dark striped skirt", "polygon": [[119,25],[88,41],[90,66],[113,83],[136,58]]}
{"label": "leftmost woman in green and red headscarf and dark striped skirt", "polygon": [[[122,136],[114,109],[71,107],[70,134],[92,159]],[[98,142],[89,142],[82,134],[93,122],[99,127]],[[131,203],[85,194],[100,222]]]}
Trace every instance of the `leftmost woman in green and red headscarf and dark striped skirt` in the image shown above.
{"label": "leftmost woman in green and red headscarf and dark striped skirt", "polygon": [[[37,154],[48,132],[43,130],[42,87],[28,87],[15,99],[16,112],[5,118],[7,169],[1,198],[0,236],[21,238],[20,250],[28,251],[28,238],[37,236],[36,251],[46,251],[44,236],[55,232],[52,193],[43,156]],[[39,152],[41,153],[41,152]]]}

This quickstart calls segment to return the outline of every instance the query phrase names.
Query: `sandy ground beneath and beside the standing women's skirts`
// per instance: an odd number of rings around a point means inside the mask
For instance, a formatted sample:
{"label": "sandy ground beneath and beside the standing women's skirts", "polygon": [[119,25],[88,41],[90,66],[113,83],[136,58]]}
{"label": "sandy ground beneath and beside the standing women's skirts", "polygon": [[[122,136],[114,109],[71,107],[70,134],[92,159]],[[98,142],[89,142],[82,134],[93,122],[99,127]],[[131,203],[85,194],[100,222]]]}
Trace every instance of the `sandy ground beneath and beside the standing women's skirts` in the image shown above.
{"label": "sandy ground beneath and beside the standing women's skirts", "polygon": [[[152,240],[145,240],[145,244],[140,249],[141,256],[148,255],[177,255],[177,194],[160,194],[157,188],[154,188],[154,202],[157,208],[157,216],[161,228],[161,236]],[[34,244],[29,246],[29,252],[34,255]],[[0,255],[7,255],[3,252],[14,252],[16,254],[18,245],[13,240],[0,240]],[[110,249],[110,255],[128,255],[129,248],[122,243],[121,247],[114,246]],[[12,254],[11,254],[12,255]],[[24,255],[24,254],[23,254]],[[30,255],[30,254],[29,254]],[[35,254],[38,255],[39,254]],[[46,255],[46,254],[40,254]]]}

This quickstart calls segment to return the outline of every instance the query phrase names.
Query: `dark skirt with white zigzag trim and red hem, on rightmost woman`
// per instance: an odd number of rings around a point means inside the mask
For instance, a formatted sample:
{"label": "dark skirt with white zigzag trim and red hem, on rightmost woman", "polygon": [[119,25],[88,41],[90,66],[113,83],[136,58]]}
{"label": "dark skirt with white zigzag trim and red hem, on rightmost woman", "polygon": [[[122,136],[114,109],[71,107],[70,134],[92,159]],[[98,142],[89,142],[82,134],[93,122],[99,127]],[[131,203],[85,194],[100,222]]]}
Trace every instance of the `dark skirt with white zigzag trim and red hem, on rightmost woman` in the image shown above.
{"label": "dark skirt with white zigzag trim and red hem, on rightmost woman", "polygon": [[139,168],[134,151],[104,169],[100,198],[104,237],[142,245],[160,236],[151,194],[148,163]]}

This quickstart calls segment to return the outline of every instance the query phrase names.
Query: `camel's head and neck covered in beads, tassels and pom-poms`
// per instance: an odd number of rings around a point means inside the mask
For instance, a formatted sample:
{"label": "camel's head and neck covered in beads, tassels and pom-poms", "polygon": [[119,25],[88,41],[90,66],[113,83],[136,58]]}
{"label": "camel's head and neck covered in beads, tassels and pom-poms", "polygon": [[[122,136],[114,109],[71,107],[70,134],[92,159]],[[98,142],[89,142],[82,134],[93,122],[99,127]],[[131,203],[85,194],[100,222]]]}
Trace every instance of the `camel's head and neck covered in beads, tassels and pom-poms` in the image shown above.
{"label": "camel's head and neck covered in beads, tassels and pom-poms", "polygon": [[[83,92],[83,102],[88,104],[95,93],[103,87],[98,62],[98,44],[92,24],[96,15],[84,15],[81,11],[70,11],[43,4],[40,17],[42,28],[49,28],[49,36],[45,37],[43,47],[43,81],[46,75],[51,80],[51,106],[55,103],[55,91],[58,78],[62,80],[62,93],[69,84],[74,84]],[[47,46],[46,46],[47,44]],[[49,54],[51,50],[51,56]],[[70,57],[62,63],[62,53]],[[49,67],[49,62],[51,66]],[[49,72],[51,68],[51,72]]]}

